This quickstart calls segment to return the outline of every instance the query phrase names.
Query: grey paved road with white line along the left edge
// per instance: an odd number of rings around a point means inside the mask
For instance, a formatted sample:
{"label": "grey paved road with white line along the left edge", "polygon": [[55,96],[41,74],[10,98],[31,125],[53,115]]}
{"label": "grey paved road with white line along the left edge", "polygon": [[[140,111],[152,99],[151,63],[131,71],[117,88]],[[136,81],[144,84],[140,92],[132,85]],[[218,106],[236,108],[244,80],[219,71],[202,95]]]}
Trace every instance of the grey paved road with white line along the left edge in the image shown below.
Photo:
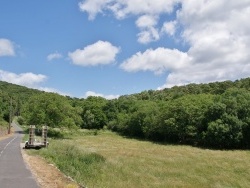
{"label": "grey paved road with white line along the left edge", "polygon": [[22,158],[22,130],[17,125],[12,125],[15,134],[0,141],[0,188],[38,188]]}

